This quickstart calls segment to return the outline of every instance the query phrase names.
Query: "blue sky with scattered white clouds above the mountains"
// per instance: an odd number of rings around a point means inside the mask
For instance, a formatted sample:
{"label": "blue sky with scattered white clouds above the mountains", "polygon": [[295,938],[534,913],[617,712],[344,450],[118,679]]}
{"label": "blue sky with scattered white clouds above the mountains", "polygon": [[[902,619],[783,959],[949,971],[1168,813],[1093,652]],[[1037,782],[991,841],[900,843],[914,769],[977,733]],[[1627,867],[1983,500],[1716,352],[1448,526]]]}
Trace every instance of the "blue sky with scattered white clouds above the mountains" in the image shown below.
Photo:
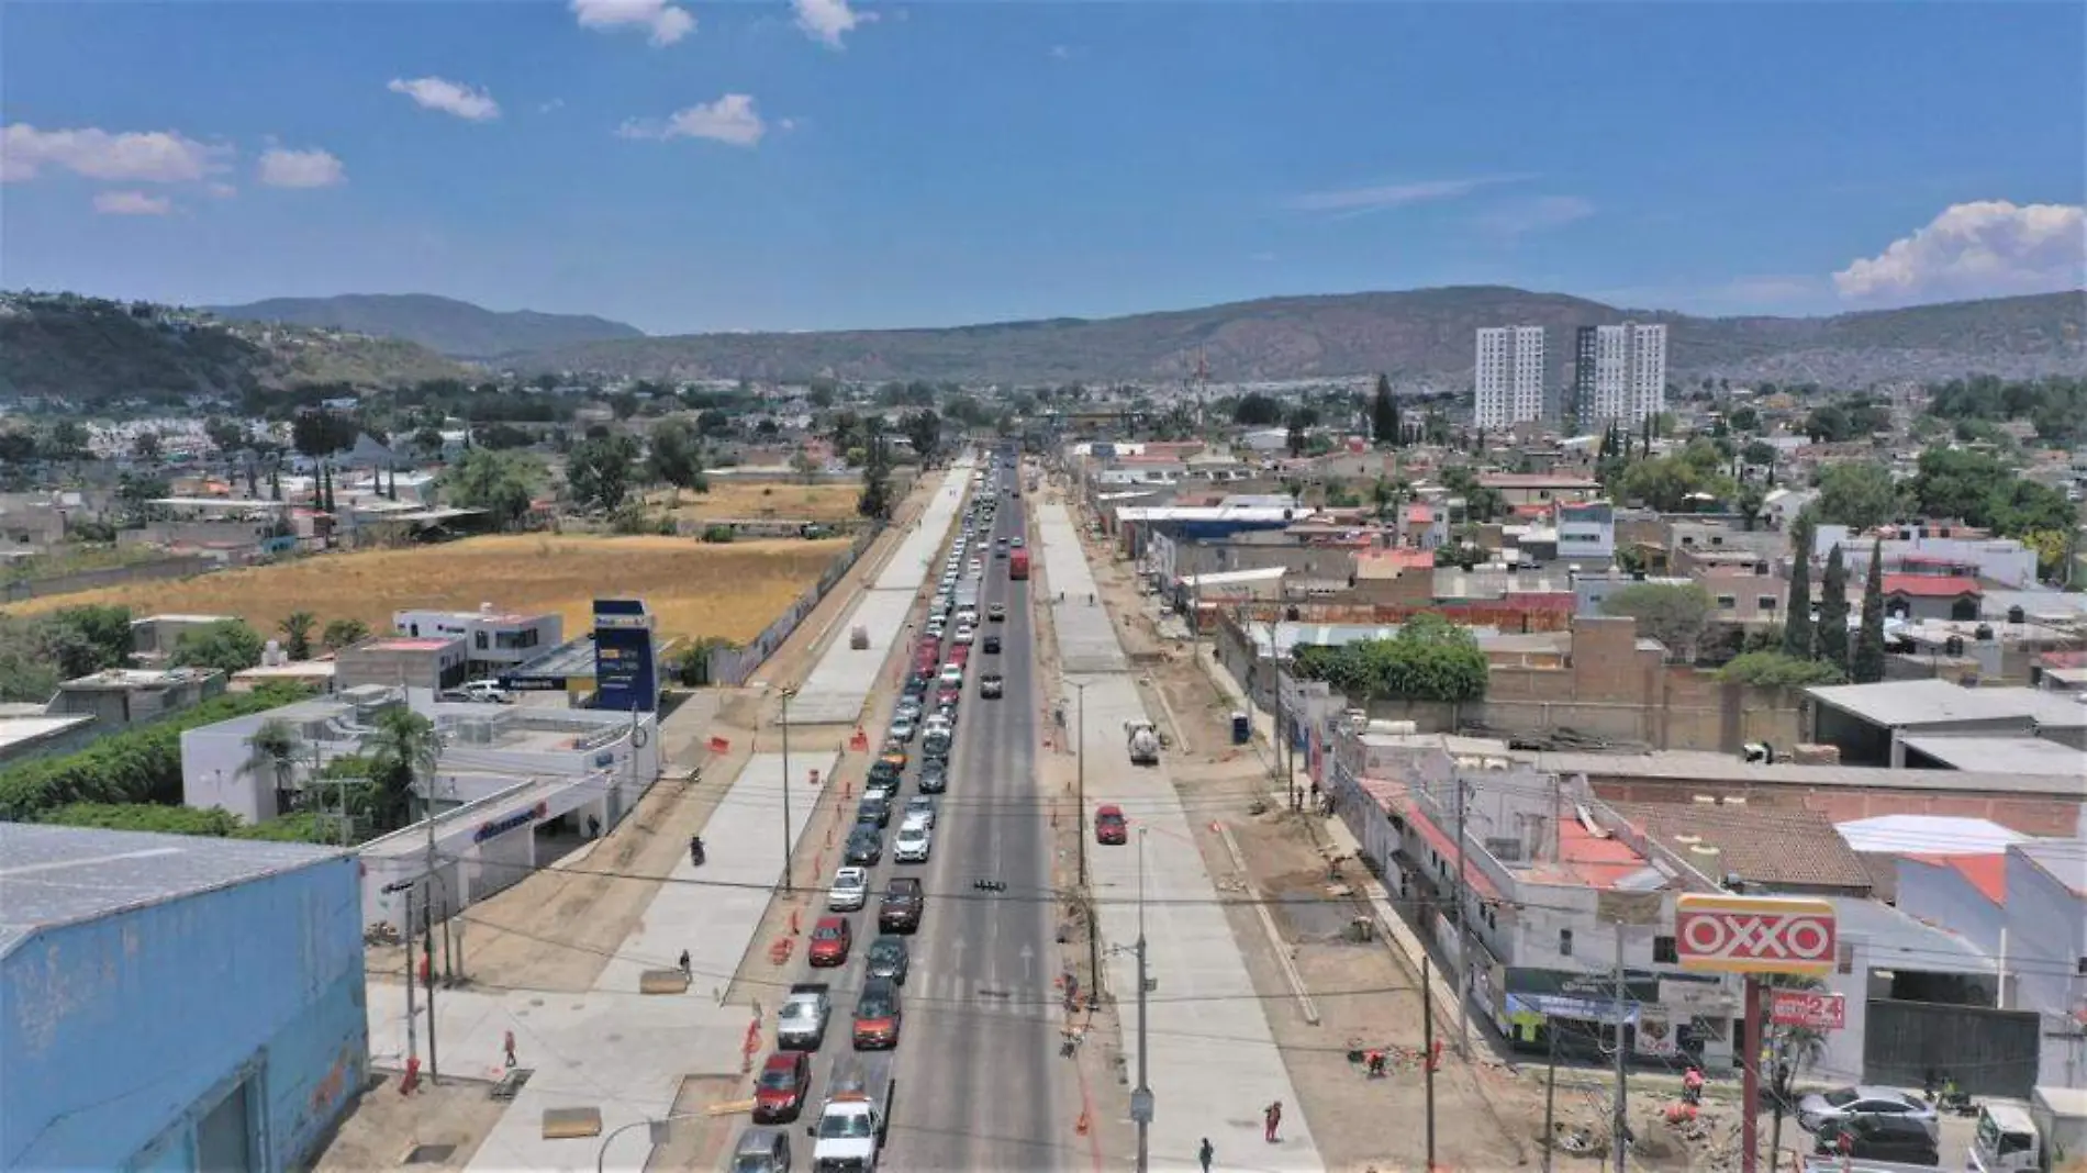
{"label": "blue sky with scattered white clouds above the mountains", "polygon": [[0,284],[651,332],[2081,284],[2079,4],[8,4]]}

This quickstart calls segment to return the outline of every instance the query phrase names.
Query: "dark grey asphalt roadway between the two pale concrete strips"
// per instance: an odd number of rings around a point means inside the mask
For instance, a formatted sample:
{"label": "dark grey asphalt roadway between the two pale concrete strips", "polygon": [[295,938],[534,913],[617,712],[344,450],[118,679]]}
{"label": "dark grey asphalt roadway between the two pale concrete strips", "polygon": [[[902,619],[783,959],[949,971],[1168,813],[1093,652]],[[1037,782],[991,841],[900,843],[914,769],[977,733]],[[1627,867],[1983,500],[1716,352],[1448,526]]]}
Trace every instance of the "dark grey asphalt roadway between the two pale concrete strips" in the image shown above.
{"label": "dark grey asphalt roadway between the two pale concrete strips", "polygon": [[[904,1027],[893,1064],[895,1092],[887,1169],[1071,1169],[1083,1163],[1075,1148],[1079,1115],[1077,1075],[1060,1058],[1060,1012],[1052,979],[1058,968],[1052,900],[1050,812],[1035,779],[1037,683],[1035,632],[1029,618],[1029,582],[1008,580],[1008,559],[993,555],[993,541],[1027,526],[1018,499],[1004,488],[993,534],[973,543],[985,561],[981,601],[1004,603],[1004,622],[981,622],[950,758],[950,789],[939,797],[933,854],[927,864],[895,864],[885,831],[885,858],[870,868],[870,900],[849,914],[856,948],[847,966],[808,971],[797,962],[795,981],[833,983],[833,1019],[814,1058],[803,1117],[791,1125],[810,1165],[803,1125],[818,1119],[818,1104],[833,1087],[837,1067],[851,1058],[856,994],[862,956],[877,939],[877,902],[891,877],[920,877],[927,912],[908,939],[910,973],[904,985]],[[945,555],[945,551],[943,551]],[[931,584],[941,576],[935,559]],[[914,632],[899,655],[912,662]],[[1002,651],[987,655],[987,635]],[[979,697],[979,676],[1000,672],[1004,699]],[[872,733],[872,741],[881,731]],[[908,749],[918,758],[918,739]],[[893,806],[918,791],[918,764]],[[1004,891],[979,891],[975,881],[995,879]],[[820,906],[816,914],[824,914]],[[810,929],[810,925],[806,925]]]}

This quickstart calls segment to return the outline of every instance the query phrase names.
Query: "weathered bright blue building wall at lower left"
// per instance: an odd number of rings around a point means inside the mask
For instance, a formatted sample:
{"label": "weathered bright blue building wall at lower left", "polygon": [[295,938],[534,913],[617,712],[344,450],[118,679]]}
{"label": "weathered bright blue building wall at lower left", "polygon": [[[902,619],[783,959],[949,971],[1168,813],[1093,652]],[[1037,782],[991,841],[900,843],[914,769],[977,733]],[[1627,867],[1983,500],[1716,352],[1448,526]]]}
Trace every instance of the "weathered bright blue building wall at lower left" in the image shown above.
{"label": "weathered bright blue building wall at lower left", "polygon": [[0,1169],[194,1169],[246,1073],[257,1167],[286,1169],[367,1064],[353,858],[50,929],[0,971]]}

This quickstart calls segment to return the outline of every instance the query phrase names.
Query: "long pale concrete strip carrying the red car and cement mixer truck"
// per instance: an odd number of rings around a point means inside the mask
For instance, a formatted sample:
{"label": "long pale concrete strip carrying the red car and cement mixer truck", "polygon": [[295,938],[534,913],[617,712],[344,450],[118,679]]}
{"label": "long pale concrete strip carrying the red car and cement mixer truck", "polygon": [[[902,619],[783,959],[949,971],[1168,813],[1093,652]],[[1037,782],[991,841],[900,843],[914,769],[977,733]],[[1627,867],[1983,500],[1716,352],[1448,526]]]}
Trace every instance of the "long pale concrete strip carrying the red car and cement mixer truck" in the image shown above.
{"label": "long pale concrete strip carrying the red car and cement mixer truck", "polygon": [[[1046,572],[1052,589],[1092,582],[1064,505],[1037,507]],[[1081,641],[1085,662],[1129,660],[1106,612],[1089,607],[1085,591],[1066,586],[1056,605],[1058,641]],[[1108,649],[1102,647],[1106,637]],[[1060,655],[1064,655],[1060,651]],[[1154,1096],[1150,1129],[1152,1169],[1196,1169],[1196,1148],[1210,1138],[1217,1167],[1267,1171],[1319,1171],[1325,1163],[1313,1144],[1284,1056],[1275,1048],[1267,1012],[1246,973],[1240,943],[1219,904],[1217,885],[1202,866],[1194,837],[1208,835],[1183,810],[1165,768],[1131,766],[1123,722],[1146,718],[1137,683],[1127,670],[1066,672],[1085,685],[1087,804],[1119,804],[1131,816],[1129,845],[1089,845],[1089,881],[1100,904],[1104,971],[1123,1025],[1125,1073],[1137,1073],[1137,943],[1140,841],[1144,841],[1144,897],[1148,977],[1148,1083]],[[1281,1142],[1261,1135],[1261,1110],[1281,1100]]]}

